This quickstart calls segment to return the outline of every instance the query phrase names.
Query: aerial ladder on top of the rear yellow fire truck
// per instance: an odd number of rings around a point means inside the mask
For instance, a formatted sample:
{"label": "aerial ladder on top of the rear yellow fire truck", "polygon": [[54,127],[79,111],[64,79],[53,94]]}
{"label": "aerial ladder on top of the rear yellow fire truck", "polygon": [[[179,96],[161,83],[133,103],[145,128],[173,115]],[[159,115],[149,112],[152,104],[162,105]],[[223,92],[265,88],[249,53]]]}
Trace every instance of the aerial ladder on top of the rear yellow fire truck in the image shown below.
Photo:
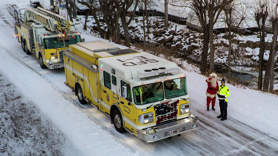
{"label": "aerial ladder on top of the rear yellow fire truck", "polygon": [[66,20],[63,16],[55,14],[49,10],[38,7],[25,8],[25,22],[34,21],[43,24],[45,28],[50,31],[64,31],[71,30],[74,24]]}

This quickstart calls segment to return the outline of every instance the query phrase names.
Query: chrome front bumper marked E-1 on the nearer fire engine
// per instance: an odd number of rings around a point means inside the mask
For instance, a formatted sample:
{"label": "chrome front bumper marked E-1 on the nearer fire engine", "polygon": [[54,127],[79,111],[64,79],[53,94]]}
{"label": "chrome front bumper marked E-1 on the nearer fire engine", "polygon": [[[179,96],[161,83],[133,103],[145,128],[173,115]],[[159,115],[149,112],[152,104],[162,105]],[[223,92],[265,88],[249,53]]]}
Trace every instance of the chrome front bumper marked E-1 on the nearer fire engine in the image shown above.
{"label": "chrome front bumper marked E-1 on the nearer fire engine", "polygon": [[185,119],[151,127],[151,129],[155,129],[153,134],[147,134],[147,129],[137,130],[136,136],[145,142],[154,142],[197,128],[198,121],[193,121],[191,117],[187,117]]}

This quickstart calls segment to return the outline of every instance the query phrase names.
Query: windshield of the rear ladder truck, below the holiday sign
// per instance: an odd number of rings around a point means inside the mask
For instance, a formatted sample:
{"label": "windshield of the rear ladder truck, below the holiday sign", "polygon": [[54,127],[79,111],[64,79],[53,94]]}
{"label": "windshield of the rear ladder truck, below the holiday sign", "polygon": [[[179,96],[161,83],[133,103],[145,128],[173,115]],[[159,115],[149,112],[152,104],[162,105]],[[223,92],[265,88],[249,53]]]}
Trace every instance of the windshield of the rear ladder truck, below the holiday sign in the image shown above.
{"label": "windshield of the rear ladder truck, below the holiday sign", "polygon": [[[69,47],[70,44],[76,44],[78,42],[81,42],[80,35],[75,35],[73,39],[64,39],[65,40],[65,46]],[[58,37],[53,38],[45,38],[43,39],[44,49],[53,49],[53,48],[61,48],[64,47],[63,39],[60,39]]]}

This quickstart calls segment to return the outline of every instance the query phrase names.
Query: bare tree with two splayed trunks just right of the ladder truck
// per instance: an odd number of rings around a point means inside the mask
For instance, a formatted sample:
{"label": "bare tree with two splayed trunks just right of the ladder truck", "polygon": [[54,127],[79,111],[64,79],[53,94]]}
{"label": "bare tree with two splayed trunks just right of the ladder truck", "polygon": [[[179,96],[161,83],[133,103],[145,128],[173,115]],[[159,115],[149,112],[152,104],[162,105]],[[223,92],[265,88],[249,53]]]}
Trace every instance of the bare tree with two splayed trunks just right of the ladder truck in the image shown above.
{"label": "bare tree with two splayed trunks just right of the ladder truck", "polygon": [[86,19],[85,19],[84,30],[87,30],[87,27],[86,27],[87,18],[91,12],[95,19],[95,23],[97,25],[97,30],[99,31],[100,37],[104,39],[103,30],[101,29],[99,19],[96,16],[96,11],[98,11],[98,9],[99,9],[99,5],[98,5],[97,1],[96,0],[78,0],[78,3],[85,5],[89,8],[89,12],[86,15]]}

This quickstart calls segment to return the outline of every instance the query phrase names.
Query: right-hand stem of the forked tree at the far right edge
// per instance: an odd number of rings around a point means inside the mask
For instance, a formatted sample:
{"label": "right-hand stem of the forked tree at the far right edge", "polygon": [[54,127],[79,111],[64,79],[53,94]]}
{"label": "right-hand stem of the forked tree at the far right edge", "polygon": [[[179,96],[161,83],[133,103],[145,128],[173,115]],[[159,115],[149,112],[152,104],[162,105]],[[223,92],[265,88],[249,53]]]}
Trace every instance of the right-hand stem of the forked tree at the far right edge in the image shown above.
{"label": "right-hand stem of the forked tree at the far right edge", "polygon": [[272,37],[272,44],[271,44],[271,49],[270,49],[270,53],[269,53],[269,57],[271,57],[271,60],[272,60],[270,63],[269,92],[273,92],[273,86],[274,86],[274,61],[275,61],[275,54],[276,54],[277,29],[278,29],[278,21],[275,21],[272,24],[273,37]]}

